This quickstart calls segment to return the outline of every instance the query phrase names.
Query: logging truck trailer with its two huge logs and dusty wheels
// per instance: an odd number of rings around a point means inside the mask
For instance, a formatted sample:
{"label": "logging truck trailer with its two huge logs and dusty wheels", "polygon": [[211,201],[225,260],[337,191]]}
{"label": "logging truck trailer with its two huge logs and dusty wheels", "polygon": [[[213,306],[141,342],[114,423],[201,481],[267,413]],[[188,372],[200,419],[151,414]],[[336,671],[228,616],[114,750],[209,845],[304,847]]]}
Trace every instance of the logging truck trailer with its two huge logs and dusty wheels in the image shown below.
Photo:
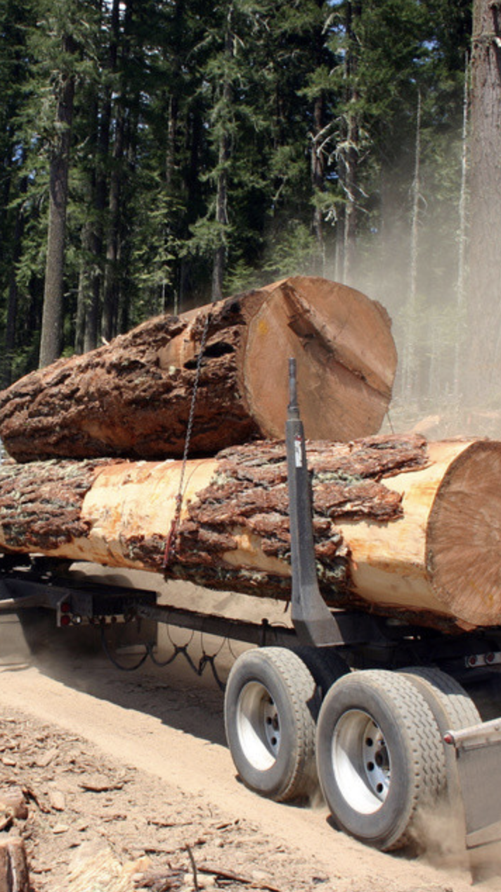
{"label": "logging truck trailer with its two huge logs and dusty wheels", "polygon": [[[375,435],[395,366],[379,304],[293,277],[21,378],[0,393],[0,612],[257,645],[225,686],[241,780],[278,801],[319,784],[385,851],[457,804],[487,747],[463,796],[478,846],[501,826],[501,442]],[[85,586],[61,574],[79,561],[283,599],[291,624]]]}

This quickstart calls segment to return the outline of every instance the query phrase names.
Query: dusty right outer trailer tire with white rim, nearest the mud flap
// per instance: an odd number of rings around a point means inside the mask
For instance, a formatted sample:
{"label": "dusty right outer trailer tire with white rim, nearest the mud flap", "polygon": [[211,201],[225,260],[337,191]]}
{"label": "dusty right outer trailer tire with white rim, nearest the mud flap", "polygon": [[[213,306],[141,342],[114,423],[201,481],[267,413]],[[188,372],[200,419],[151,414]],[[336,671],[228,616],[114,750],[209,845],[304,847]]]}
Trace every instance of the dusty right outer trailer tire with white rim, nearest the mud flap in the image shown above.
{"label": "dusty right outer trailer tire with white rim, nearest the mud flap", "polygon": [[413,839],[419,809],[444,787],[432,711],[411,681],[387,670],[332,685],[319,714],[317,767],[337,826],[382,851]]}

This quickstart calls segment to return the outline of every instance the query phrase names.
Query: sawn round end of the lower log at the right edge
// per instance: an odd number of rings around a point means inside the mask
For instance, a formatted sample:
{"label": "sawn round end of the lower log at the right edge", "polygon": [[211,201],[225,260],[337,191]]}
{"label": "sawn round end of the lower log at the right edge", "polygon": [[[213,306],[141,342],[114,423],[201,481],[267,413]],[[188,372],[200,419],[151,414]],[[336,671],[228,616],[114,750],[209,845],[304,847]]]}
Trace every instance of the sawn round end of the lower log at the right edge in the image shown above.
{"label": "sawn round end of the lower log at the right edge", "polygon": [[501,442],[473,442],[433,501],[426,566],[437,598],[465,624],[501,624]]}

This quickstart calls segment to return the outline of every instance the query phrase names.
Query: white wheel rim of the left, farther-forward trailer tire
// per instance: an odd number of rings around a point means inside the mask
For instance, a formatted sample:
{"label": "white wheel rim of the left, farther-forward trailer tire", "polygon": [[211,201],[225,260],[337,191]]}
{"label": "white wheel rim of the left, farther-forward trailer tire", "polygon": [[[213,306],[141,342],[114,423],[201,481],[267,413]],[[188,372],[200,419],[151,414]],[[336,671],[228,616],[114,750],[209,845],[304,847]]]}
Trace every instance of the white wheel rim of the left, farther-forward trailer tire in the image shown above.
{"label": "white wheel rim of the left, farther-forward trailer tire", "polygon": [[240,747],[258,771],[267,771],[277,761],[280,723],[270,691],[259,681],[249,681],[240,691],[237,703],[237,731]]}

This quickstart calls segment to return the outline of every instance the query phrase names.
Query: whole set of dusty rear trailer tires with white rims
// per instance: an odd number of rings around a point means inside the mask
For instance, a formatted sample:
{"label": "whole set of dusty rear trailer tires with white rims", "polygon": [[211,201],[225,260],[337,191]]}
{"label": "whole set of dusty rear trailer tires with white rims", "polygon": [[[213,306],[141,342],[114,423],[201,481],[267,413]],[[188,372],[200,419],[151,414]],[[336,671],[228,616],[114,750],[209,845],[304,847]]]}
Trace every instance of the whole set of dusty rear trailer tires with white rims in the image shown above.
{"label": "whole set of dusty rear trailer tires with white rims", "polygon": [[476,721],[465,691],[439,670],[350,673],[333,651],[246,651],[225,694],[247,787],[283,802],[310,797],[319,781],[335,824],[383,851],[413,840],[419,813],[448,788],[444,731]]}

